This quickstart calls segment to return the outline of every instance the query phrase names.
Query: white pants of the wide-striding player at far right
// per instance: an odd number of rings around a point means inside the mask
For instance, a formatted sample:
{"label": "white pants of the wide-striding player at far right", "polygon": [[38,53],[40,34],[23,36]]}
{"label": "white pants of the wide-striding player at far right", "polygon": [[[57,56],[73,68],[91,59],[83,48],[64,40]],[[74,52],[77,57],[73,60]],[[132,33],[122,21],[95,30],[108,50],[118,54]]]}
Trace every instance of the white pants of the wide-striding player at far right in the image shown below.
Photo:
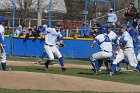
{"label": "white pants of the wide-striding player at far right", "polygon": [[120,49],[120,51],[118,51],[116,58],[113,61],[113,64],[118,64],[120,61],[122,61],[124,58],[127,58],[130,65],[134,68],[136,68],[138,61],[137,58],[135,56],[134,53],[134,49],[133,48],[129,48],[129,50],[122,50]]}

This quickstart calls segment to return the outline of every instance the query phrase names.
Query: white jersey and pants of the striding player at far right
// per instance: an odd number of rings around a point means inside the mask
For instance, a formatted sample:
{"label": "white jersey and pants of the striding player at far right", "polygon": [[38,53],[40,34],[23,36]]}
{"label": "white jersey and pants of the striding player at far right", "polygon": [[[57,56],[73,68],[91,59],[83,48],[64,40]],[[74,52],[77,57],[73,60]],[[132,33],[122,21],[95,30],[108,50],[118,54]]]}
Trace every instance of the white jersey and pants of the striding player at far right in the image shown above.
{"label": "white jersey and pants of the striding player at far right", "polygon": [[136,68],[138,61],[134,53],[133,40],[130,34],[127,31],[125,31],[122,35],[118,37],[118,40],[117,40],[118,43],[119,43],[119,40],[125,40],[127,43],[123,47],[123,49],[120,49],[119,51],[117,51],[117,55],[113,61],[113,64],[118,64],[121,60],[124,59],[124,57],[126,57],[130,65]]}

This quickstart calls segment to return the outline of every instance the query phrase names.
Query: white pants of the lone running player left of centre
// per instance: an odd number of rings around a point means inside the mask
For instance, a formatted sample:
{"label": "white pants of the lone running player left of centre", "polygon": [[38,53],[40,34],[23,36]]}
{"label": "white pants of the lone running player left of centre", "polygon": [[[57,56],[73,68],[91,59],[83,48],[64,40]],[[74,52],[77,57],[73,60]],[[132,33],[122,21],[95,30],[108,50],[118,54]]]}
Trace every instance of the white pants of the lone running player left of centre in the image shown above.
{"label": "white pants of the lone running player left of centre", "polygon": [[49,60],[54,60],[53,54],[55,54],[58,58],[62,57],[62,54],[55,45],[54,46],[44,45],[44,49],[45,52],[48,54]]}

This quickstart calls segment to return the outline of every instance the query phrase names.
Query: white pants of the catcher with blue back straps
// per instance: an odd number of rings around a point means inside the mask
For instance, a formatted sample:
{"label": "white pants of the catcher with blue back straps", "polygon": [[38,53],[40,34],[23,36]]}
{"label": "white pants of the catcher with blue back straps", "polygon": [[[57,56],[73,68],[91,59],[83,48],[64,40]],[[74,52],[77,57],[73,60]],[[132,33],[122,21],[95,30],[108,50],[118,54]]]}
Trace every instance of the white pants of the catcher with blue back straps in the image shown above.
{"label": "white pants of the catcher with blue back straps", "polygon": [[112,57],[112,52],[100,51],[100,52],[92,54],[90,60],[94,61],[94,60],[99,60],[99,59],[107,59],[110,57]]}

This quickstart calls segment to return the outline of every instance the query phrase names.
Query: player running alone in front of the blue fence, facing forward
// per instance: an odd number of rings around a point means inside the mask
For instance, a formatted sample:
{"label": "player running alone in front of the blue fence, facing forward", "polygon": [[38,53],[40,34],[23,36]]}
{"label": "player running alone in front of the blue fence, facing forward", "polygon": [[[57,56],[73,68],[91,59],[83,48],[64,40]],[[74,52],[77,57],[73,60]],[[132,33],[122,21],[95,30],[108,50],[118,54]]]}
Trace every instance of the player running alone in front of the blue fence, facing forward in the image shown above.
{"label": "player running alone in front of the blue fence, facing forward", "polygon": [[47,62],[45,62],[46,70],[48,70],[49,63],[54,60],[54,55],[53,54],[55,54],[58,57],[58,60],[60,62],[62,71],[67,70],[67,68],[64,67],[64,61],[63,61],[63,58],[62,58],[62,54],[60,53],[60,51],[56,47],[57,38],[62,37],[61,34],[60,34],[60,26],[61,26],[61,23],[56,22],[54,28],[46,28],[44,35],[41,34],[41,36],[43,38],[45,38],[44,49],[45,49],[45,51],[46,51],[46,53],[48,54],[48,57],[49,57]]}

